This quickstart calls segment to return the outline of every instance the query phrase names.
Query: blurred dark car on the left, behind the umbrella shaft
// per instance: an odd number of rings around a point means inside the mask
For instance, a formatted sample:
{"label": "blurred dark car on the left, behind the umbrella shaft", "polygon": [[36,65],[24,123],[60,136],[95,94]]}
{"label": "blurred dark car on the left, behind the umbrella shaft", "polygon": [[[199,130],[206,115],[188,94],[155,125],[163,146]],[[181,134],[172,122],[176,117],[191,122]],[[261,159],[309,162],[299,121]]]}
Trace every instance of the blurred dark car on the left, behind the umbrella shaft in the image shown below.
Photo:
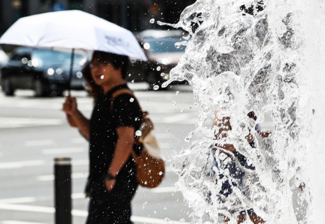
{"label": "blurred dark car on the left, behind the umbrella shaft", "polygon": [[[87,56],[75,54],[72,89],[83,89],[82,67]],[[6,95],[15,89],[34,89],[37,97],[61,95],[69,87],[71,53],[50,49],[19,47],[1,69],[1,85]]]}

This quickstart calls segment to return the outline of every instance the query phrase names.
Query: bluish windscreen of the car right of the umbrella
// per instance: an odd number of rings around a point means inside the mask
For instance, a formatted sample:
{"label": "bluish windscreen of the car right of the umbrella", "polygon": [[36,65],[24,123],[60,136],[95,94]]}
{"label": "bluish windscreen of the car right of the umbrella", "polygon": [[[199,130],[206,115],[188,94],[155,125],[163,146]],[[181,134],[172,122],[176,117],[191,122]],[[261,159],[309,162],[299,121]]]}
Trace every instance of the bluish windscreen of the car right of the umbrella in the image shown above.
{"label": "bluish windscreen of the car right of the umbrella", "polygon": [[153,54],[184,52],[186,46],[181,45],[179,48],[177,48],[175,47],[175,43],[177,42],[181,42],[180,38],[154,38],[147,39],[147,43],[145,43],[143,46],[146,50],[151,51]]}

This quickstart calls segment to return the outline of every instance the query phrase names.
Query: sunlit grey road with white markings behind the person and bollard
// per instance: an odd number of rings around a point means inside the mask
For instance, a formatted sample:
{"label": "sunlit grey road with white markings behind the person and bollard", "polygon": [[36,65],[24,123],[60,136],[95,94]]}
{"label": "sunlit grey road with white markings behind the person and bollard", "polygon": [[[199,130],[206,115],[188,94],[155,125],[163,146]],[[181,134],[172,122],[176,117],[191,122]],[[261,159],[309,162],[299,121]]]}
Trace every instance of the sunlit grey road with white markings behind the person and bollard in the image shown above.
{"label": "sunlit grey road with white markings behind the person and bollard", "polygon": [[[167,164],[166,177],[154,189],[139,187],[133,200],[136,223],[186,223],[191,209],[174,186],[176,154],[188,145],[187,134],[198,122],[199,107],[191,86],[147,91],[133,84],[136,96],[155,123],[155,134]],[[88,145],[71,128],[60,110],[63,98],[34,98],[20,90],[15,97],[0,93],[0,224],[53,223],[53,158],[72,158],[73,223],[84,223],[87,203],[83,190],[88,172]],[[89,116],[92,99],[73,91],[79,109]]]}

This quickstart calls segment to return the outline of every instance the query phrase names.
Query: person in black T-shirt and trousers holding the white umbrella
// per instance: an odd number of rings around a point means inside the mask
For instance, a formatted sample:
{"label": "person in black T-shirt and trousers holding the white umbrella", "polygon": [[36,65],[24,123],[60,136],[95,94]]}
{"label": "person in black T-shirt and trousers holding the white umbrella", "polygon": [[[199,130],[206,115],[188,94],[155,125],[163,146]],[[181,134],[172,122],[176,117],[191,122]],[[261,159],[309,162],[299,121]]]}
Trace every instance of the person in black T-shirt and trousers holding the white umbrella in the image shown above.
{"label": "person in black T-shirt and trousers holding the white umbrella", "polygon": [[[128,89],[122,55],[95,51],[84,69],[94,109],[87,119],[77,109],[75,98],[63,104],[69,123],[89,138],[90,195],[87,224],[132,223],[131,200],[138,187],[131,150],[140,128],[141,109],[132,95],[115,91]],[[89,76],[90,75],[90,76]]]}

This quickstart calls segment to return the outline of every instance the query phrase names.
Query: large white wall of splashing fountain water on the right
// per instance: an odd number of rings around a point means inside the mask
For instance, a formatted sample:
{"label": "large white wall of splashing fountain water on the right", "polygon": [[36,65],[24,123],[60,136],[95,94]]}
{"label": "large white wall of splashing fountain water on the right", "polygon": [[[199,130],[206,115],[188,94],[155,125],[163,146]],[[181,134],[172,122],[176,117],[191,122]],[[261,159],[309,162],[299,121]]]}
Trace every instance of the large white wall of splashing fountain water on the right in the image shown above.
{"label": "large white wall of splashing fountain water on the right", "polygon": [[[319,150],[325,107],[314,99],[325,95],[320,87],[325,35],[317,29],[324,21],[321,5],[318,0],[199,0],[177,24],[157,21],[191,36],[162,87],[187,80],[201,102],[197,129],[185,139],[191,148],[178,156],[183,161],[178,186],[194,210],[193,222],[228,217],[237,223],[240,212],[251,209],[266,223],[325,220],[320,194],[325,181],[314,177],[317,166],[324,170],[321,159],[315,162],[315,155],[324,157]],[[217,117],[228,120],[212,126],[207,120],[218,109]],[[268,111],[275,129],[262,138],[251,130]],[[226,122],[231,131],[217,138]],[[237,152],[225,153],[225,144]]]}

